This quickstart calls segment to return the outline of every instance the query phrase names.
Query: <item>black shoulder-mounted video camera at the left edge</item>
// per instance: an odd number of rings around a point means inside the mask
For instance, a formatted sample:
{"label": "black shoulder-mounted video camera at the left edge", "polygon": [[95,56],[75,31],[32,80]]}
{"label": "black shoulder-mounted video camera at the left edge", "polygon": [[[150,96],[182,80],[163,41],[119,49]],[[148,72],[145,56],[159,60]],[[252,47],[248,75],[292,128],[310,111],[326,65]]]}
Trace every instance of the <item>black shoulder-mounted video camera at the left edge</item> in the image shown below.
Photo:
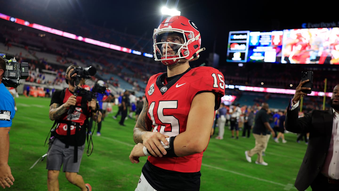
{"label": "black shoulder-mounted video camera at the left edge", "polygon": [[2,83],[7,87],[18,87],[21,79],[27,79],[28,63],[19,63],[12,55],[0,53],[0,56],[5,60],[6,70],[3,73]]}

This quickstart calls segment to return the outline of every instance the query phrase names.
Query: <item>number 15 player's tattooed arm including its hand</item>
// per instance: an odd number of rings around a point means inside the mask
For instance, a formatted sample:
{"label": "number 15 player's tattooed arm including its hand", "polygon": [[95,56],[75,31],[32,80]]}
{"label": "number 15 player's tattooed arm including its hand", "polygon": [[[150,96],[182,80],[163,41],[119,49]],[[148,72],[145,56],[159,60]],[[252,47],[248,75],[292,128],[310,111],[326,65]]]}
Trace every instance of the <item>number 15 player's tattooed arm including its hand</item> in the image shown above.
{"label": "number 15 player's tattooed arm including its hand", "polygon": [[143,143],[153,156],[162,156],[161,153],[165,152],[165,149],[163,148],[160,140],[164,144],[168,145],[166,138],[169,136],[163,135],[159,132],[151,132],[153,122],[148,118],[147,113],[148,103],[146,100],[133,129],[134,142]]}

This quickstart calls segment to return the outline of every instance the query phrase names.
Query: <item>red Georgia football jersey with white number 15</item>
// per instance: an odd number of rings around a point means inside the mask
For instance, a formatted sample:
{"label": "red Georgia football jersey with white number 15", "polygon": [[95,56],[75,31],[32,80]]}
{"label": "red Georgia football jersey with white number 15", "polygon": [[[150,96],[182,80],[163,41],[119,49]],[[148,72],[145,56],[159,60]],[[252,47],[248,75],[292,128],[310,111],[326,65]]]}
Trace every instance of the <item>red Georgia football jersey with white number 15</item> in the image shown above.
{"label": "red Georgia football jersey with white number 15", "polygon": [[[151,76],[146,86],[148,118],[152,120],[153,132],[170,137],[186,131],[188,113],[195,95],[214,92],[215,110],[219,108],[221,97],[225,94],[223,74],[212,67],[189,68],[164,85],[165,73]],[[203,111],[202,111],[203,112]],[[154,166],[177,172],[199,172],[201,153],[184,157],[148,156]]]}

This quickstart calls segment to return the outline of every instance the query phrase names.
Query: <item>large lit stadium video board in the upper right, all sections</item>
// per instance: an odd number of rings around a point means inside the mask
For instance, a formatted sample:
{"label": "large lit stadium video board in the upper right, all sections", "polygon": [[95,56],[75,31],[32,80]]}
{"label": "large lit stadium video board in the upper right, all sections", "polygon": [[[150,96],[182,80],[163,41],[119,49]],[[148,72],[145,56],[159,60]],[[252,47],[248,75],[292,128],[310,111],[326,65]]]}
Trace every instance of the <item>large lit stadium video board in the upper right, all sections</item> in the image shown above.
{"label": "large lit stadium video board in the upper right, all sections", "polygon": [[226,61],[339,64],[339,28],[231,31]]}

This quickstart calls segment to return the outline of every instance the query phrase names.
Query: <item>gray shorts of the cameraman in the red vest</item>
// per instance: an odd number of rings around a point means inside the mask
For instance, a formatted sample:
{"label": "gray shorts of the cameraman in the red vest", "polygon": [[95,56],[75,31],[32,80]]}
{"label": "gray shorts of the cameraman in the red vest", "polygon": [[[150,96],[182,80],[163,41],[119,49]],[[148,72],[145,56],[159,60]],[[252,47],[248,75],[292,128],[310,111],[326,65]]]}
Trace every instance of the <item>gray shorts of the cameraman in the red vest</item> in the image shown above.
{"label": "gray shorts of the cameraman in the red vest", "polygon": [[60,171],[63,164],[63,172],[79,172],[82,154],[85,148],[85,144],[78,146],[78,162],[74,163],[74,146],[65,147],[66,145],[59,139],[55,139],[51,149],[47,154],[47,170]]}

